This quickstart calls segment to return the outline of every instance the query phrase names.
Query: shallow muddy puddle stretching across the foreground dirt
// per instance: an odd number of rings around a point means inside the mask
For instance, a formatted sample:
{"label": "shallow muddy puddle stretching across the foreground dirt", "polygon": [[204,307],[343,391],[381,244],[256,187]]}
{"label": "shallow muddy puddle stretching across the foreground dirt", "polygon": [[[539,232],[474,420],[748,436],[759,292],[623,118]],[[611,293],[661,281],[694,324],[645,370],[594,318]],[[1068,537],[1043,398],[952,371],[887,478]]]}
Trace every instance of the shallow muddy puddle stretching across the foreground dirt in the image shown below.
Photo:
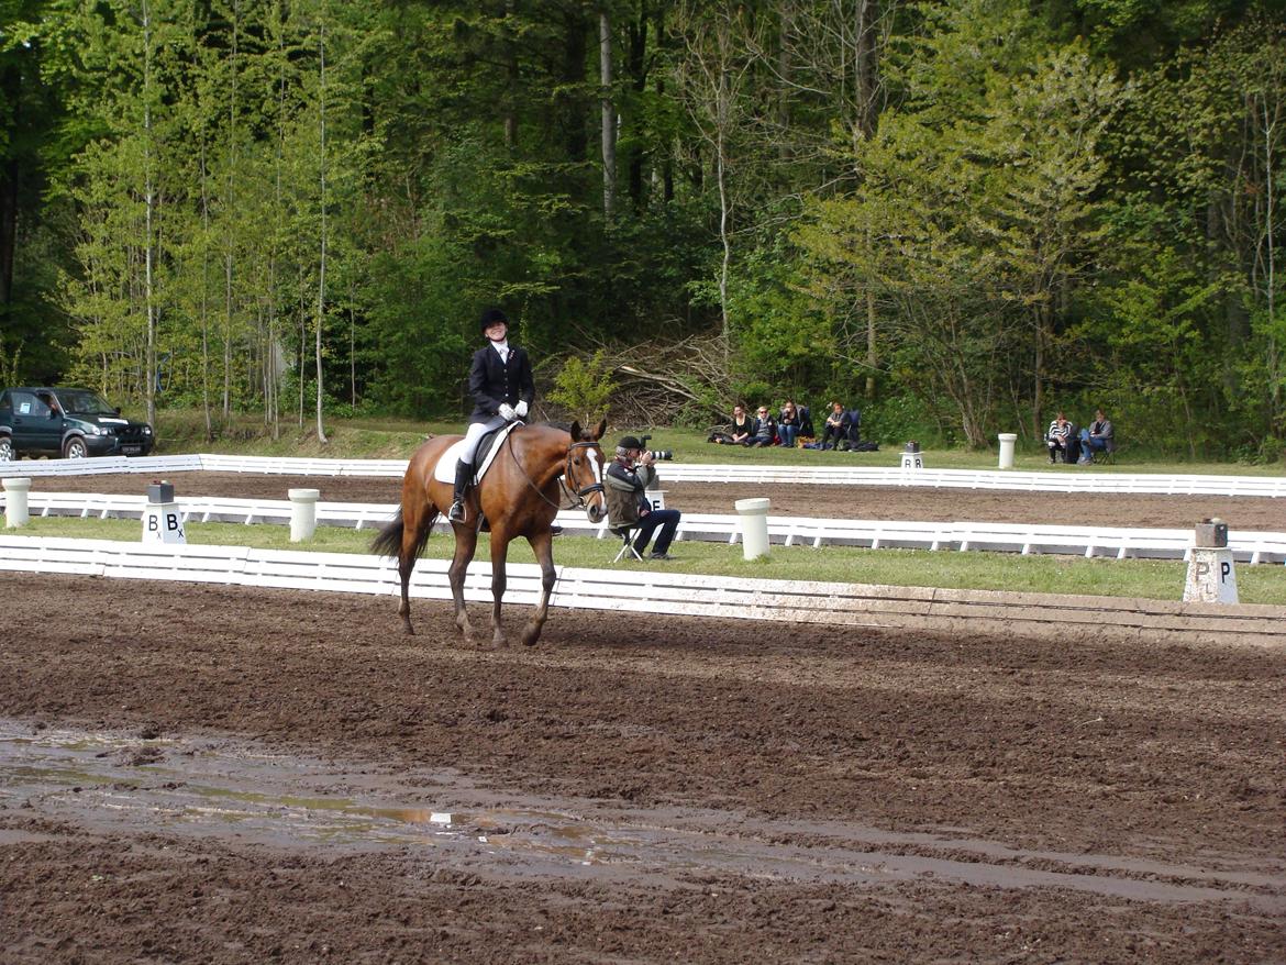
{"label": "shallow muddy puddle stretching across the foreground dirt", "polygon": [[[436,800],[424,802],[426,787]],[[957,836],[957,829],[950,835],[891,834],[836,822],[756,823],[719,812],[613,811],[549,800],[516,807],[512,795],[504,799],[445,771],[343,769],[215,737],[32,733],[3,719],[0,804],[112,834],[159,830],[284,848],[430,848],[435,861],[512,875],[675,881],[730,874],[872,885],[932,880],[1066,888],[1138,901],[1246,901],[1286,911],[1286,871],[1272,861],[1254,863],[1255,872],[1219,872],[1020,852]],[[783,834],[824,843],[770,843]],[[935,857],[934,850],[976,859]],[[1069,871],[1025,866],[1025,859],[1058,862]],[[1097,874],[1071,871],[1085,866]]]}

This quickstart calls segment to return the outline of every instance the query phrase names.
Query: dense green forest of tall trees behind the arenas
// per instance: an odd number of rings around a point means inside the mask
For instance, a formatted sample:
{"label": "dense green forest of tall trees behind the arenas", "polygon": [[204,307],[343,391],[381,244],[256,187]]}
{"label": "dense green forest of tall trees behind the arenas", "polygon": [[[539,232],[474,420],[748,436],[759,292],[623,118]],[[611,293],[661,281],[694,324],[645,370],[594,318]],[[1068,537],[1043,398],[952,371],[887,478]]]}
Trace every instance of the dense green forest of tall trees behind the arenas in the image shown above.
{"label": "dense green forest of tall trees behind the arenas", "polygon": [[571,414],[1272,462],[1283,9],[0,0],[0,381],[324,440],[495,304]]}

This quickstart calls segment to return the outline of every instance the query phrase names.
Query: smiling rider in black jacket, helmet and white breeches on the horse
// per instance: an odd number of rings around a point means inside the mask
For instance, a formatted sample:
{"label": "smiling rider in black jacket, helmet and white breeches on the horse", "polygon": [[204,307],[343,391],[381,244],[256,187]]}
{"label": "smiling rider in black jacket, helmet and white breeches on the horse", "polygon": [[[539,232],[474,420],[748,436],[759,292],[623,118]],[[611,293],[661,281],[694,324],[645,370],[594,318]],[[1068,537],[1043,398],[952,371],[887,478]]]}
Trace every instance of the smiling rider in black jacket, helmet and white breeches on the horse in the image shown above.
{"label": "smiling rider in black jacket, helmet and white breeches on the horse", "polygon": [[473,412],[464,434],[464,448],[455,463],[455,492],[446,519],[464,521],[464,495],[473,481],[473,462],[478,443],[494,428],[525,418],[536,399],[531,377],[531,359],[516,345],[509,345],[509,319],[500,309],[487,309],[481,319],[487,344],[473,353],[469,368],[469,394]]}

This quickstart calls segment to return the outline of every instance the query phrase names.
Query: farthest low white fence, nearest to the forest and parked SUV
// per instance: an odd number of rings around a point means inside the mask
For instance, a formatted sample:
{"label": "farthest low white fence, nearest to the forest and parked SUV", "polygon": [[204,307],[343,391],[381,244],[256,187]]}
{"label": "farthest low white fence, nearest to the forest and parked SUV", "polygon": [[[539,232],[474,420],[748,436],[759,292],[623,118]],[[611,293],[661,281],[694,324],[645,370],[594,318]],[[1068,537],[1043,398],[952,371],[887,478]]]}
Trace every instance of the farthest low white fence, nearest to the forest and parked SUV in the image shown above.
{"label": "farthest low white fence, nearest to the forest and parked SUV", "polygon": [[[818,453],[819,457],[829,453]],[[896,453],[895,453],[896,455]],[[280,476],[367,476],[401,479],[405,459],[300,459],[260,455],[152,455],[102,459],[39,459],[0,463],[3,476],[102,475],[114,472],[255,472]],[[667,462],[666,482],[773,482],[850,486],[927,486],[998,489],[1038,493],[1139,493],[1160,495],[1258,495],[1286,498],[1286,479],[1277,476],[1199,476],[1168,473],[1100,473],[1078,467],[1046,472],[1012,470],[903,470],[867,466],[764,466]]]}

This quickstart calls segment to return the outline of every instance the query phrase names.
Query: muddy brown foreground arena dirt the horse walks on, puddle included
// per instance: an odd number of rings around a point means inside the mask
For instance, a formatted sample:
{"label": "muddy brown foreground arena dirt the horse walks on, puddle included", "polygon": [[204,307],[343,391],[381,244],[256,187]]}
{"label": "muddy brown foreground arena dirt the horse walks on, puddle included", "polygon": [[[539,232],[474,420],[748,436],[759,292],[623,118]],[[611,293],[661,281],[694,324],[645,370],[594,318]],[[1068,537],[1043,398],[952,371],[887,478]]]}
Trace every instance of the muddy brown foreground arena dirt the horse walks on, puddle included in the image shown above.
{"label": "muddy brown foreground arena dirt the horse walks on, puddle included", "polygon": [[5,965],[1286,961],[1286,652],[0,600]]}

